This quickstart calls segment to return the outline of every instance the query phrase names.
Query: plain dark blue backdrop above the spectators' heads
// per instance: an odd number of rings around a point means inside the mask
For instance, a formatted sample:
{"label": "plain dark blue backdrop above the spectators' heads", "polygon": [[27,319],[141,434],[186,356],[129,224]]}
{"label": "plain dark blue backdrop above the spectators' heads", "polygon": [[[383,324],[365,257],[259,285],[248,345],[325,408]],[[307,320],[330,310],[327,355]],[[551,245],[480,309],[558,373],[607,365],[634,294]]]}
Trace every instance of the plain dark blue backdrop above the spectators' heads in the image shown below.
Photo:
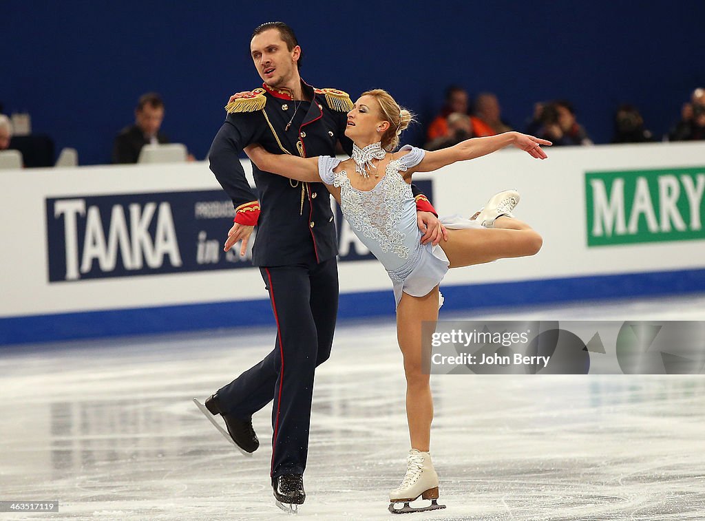
{"label": "plain dark blue backdrop above the spectators' heads", "polygon": [[[35,133],[109,162],[137,97],[160,92],[163,130],[203,159],[229,94],[261,83],[248,56],[266,20],[292,25],[302,76],[359,94],[384,87],[428,121],[443,89],[496,92],[522,130],[534,102],[567,98],[596,142],[621,102],[660,137],[705,85],[705,1],[0,3],[0,102]],[[422,140],[416,128],[406,140]]]}

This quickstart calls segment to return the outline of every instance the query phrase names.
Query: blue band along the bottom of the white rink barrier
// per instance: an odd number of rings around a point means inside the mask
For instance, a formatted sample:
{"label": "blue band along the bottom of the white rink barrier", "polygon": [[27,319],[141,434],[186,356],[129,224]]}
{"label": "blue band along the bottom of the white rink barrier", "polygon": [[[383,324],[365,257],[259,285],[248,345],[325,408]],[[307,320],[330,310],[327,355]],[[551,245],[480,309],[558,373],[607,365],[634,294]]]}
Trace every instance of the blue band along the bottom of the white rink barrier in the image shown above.
{"label": "blue band along the bottom of the white rink barrier", "polygon": [[[705,269],[444,286],[443,311],[705,293]],[[369,306],[374,302],[374,307]],[[338,319],[394,313],[391,290],[344,293]],[[269,300],[0,319],[0,345],[274,324]]]}

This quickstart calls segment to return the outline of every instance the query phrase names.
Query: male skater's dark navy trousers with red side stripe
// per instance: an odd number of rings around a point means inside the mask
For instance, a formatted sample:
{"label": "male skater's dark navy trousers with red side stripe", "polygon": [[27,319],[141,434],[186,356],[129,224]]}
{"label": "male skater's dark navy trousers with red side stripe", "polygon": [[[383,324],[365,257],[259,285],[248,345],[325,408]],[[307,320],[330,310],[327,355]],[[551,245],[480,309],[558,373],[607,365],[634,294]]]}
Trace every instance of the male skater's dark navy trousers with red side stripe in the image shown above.
{"label": "male skater's dark navy trousers with red side stripe", "polygon": [[338,314],[338,265],[259,269],[269,290],[274,350],[218,391],[223,412],[245,418],[274,399],[271,476],[303,474],[308,455],[315,369],[331,354]]}

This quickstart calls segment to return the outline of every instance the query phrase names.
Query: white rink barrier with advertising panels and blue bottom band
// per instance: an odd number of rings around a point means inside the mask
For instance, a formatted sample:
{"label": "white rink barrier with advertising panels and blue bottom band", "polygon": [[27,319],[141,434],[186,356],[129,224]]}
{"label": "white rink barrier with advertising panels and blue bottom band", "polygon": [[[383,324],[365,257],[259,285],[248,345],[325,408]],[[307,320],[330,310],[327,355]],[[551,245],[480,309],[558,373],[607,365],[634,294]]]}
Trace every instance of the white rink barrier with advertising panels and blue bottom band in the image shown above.
{"label": "white rink barrier with advertising panels and blue bottom band", "polygon": [[[441,314],[705,292],[705,143],[548,153],[415,177],[441,215],[517,188],[544,238],[534,257],[451,269]],[[259,269],[222,252],[233,210],[207,164],[3,176],[0,345],[272,323]],[[393,314],[386,272],[336,216],[318,226],[337,227],[339,317]]]}

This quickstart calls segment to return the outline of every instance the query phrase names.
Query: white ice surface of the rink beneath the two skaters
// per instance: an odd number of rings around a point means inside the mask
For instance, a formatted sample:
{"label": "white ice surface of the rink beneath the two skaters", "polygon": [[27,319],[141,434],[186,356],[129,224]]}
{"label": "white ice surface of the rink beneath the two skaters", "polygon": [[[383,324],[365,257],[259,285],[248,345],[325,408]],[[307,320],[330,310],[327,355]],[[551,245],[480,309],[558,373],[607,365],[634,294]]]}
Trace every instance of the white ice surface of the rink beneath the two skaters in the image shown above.
{"label": "white ice surface of the rink beneath the two skaters", "polygon": [[[705,297],[458,314],[705,320]],[[272,328],[0,352],[0,500],[20,519],[290,519],[274,505],[267,406],[245,458],[193,405],[266,354]],[[704,376],[434,376],[431,454],[446,510],[405,520],[696,520]],[[317,374],[297,517],[389,520],[409,448],[393,321],[336,331]]]}

